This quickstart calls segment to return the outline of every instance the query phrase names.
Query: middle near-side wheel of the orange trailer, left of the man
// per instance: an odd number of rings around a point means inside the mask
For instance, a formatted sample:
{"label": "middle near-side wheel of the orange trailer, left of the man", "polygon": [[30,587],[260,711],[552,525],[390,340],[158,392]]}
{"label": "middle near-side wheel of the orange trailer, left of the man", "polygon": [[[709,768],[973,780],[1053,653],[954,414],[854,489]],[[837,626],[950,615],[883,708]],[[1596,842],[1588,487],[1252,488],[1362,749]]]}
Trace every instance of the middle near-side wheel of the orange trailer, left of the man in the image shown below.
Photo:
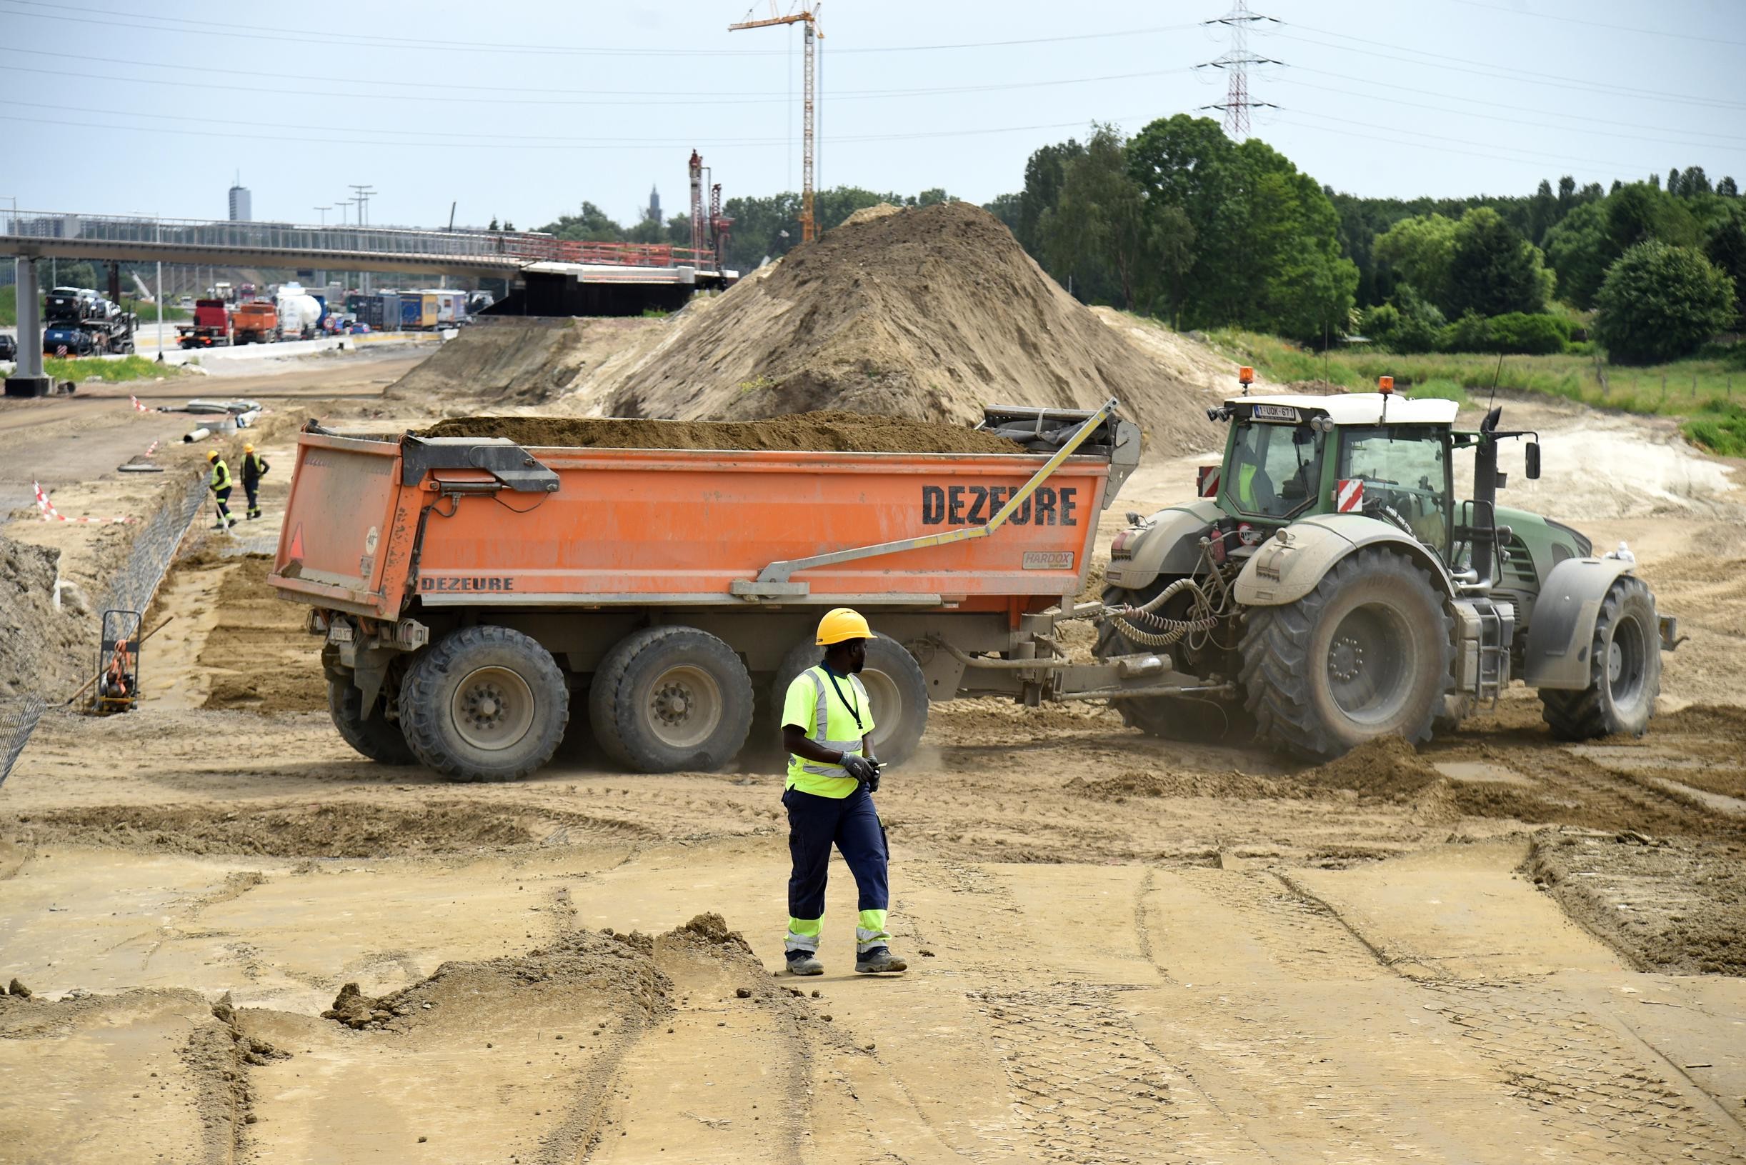
{"label": "middle near-side wheel of the orange trailer, left of the man", "polygon": [[753,678],[697,627],[650,627],[608,651],[588,688],[594,739],[637,772],[712,772],[746,744]]}

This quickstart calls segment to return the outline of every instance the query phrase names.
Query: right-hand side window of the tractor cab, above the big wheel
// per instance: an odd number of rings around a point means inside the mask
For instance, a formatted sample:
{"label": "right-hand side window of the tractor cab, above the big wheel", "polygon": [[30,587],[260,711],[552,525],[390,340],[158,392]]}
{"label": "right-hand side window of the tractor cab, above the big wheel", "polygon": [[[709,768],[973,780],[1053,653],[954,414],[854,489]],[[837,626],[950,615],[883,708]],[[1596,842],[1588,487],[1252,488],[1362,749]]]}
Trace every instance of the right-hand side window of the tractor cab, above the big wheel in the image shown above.
{"label": "right-hand side window of the tractor cab, above the big wheel", "polygon": [[1364,424],[1339,435],[1341,480],[1364,482],[1362,508],[1406,524],[1442,555],[1449,552],[1449,442],[1426,424]]}

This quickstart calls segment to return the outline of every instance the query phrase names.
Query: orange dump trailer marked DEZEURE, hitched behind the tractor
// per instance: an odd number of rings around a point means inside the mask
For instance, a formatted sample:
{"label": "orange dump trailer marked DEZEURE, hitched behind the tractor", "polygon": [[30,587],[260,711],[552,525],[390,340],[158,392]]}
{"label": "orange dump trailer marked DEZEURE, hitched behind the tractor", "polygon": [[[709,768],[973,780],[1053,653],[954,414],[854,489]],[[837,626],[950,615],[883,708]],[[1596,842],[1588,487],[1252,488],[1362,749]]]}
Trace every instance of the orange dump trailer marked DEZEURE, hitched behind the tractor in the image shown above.
{"label": "orange dump trailer marked DEZEURE, hitched behind the tractor", "polygon": [[1168,655],[1070,662],[1098,515],[1138,461],[1100,410],[988,409],[1023,452],[520,447],[307,426],[271,576],[325,636],[360,753],[461,781],[546,763],[569,721],[643,772],[712,770],[854,606],[875,751],[931,700],[1198,692]]}

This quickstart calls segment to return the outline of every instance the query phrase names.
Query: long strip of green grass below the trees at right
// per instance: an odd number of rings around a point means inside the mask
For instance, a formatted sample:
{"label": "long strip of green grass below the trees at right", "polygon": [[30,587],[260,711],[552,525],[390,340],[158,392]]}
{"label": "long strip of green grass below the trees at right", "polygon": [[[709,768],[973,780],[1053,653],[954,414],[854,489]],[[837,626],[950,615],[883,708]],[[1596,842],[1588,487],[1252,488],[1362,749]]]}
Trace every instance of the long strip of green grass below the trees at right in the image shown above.
{"label": "long strip of green grass below the trees at right", "polygon": [[1254,365],[1271,381],[1325,379],[1353,391],[1371,389],[1376,377],[1392,376],[1395,389],[1409,395],[1425,395],[1421,389],[1430,384],[1454,384],[1472,396],[1484,396],[1496,379],[1496,386],[1507,391],[1563,396],[1626,412],[1697,416],[1711,405],[1746,405],[1746,372],[1734,353],[1626,369],[1577,353],[1503,356],[1500,365],[1498,356],[1484,353],[1400,356],[1344,349],[1323,355],[1276,335],[1236,330],[1212,332],[1208,339],[1231,360]]}

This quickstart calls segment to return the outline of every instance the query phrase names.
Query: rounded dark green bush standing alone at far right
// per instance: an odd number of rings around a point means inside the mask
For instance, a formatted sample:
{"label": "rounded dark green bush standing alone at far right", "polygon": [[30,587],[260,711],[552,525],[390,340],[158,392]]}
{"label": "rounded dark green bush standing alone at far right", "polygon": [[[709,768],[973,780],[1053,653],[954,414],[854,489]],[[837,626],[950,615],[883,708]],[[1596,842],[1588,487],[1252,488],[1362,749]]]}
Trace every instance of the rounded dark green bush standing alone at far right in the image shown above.
{"label": "rounded dark green bush standing alone at far right", "polygon": [[1734,320],[1734,281],[1697,252],[1639,243],[1606,269],[1594,339],[1615,363],[1680,360]]}

